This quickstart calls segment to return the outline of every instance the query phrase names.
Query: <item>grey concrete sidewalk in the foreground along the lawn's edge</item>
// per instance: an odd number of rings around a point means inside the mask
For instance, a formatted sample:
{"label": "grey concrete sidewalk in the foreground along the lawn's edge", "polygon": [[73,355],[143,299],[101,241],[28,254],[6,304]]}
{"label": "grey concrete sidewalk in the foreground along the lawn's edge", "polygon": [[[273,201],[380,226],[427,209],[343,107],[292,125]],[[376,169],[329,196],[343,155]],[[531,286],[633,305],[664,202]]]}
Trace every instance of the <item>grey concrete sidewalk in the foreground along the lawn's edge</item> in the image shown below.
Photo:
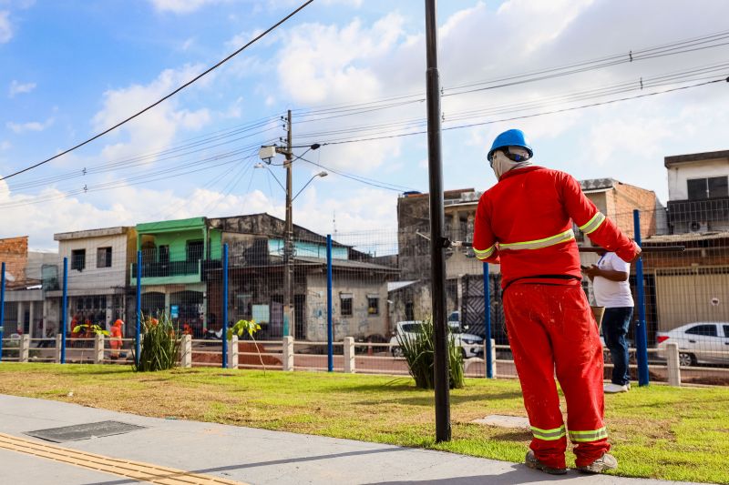
{"label": "grey concrete sidewalk in the foreground along the lawn's edge", "polygon": [[[658,484],[659,480],[580,475],[550,477],[523,465],[353,440],[176,419],[144,418],[43,399],[0,395],[0,433],[24,433],[103,420],[147,427],[127,434],[58,443],[67,449],[136,460],[243,483]],[[0,483],[122,485],[140,483],[23,452],[0,450]]]}

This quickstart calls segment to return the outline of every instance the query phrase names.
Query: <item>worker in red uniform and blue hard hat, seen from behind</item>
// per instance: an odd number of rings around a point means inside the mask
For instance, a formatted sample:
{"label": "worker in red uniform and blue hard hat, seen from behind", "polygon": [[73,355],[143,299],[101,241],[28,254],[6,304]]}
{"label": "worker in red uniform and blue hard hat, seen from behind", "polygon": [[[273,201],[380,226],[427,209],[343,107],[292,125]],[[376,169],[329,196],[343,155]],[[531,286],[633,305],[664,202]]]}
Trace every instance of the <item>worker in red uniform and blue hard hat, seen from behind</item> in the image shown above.
{"label": "worker in red uniform and blue hard hat, seen from behind", "polygon": [[[608,453],[602,347],[581,287],[572,224],[625,261],[641,249],[582,194],[577,180],[531,165],[532,155],[520,130],[494,140],[488,161],[498,183],[478,201],[473,248],[478,259],[501,264],[508,341],[533,434],[527,466],[566,473],[569,435],[578,470],[600,473],[618,462]],[[555,370],[567,401],[567,429]]]}

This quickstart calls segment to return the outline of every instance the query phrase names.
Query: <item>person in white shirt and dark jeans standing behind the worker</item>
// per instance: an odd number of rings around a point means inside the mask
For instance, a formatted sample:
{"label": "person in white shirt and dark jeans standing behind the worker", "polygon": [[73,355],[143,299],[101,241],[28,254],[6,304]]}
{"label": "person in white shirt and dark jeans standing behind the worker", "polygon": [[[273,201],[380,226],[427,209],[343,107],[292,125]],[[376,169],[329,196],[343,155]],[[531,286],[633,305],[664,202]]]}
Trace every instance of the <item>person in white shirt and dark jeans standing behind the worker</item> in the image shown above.
{"label": "person in white shirt and dark jeans standing behind the worker", "polygon": [[625,336],[631,324],[633,300],[631,285],[631,264],[615,253],[603,251],[597,265],[584,268],[592,281],[595,302],[605,307],[602,317],[602,335],[612,357],[612,379],[604,386],[605,392],[626,392],[631,389],[628,373],[628,343]]}

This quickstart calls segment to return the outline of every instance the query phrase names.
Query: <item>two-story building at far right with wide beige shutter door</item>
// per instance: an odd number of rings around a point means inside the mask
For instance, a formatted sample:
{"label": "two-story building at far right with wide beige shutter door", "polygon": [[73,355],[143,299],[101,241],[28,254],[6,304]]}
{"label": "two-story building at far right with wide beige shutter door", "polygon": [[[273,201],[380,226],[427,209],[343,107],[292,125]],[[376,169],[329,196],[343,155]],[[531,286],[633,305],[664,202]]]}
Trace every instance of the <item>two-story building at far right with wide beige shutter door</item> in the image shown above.
{"label": "two-story building at far right with wide beige shutter door", "polygon": [[686,249],[642,257],[654,287],[656,329],[729,321],[729,150],[665,157],[664,166],[670,230],[643,245]]}

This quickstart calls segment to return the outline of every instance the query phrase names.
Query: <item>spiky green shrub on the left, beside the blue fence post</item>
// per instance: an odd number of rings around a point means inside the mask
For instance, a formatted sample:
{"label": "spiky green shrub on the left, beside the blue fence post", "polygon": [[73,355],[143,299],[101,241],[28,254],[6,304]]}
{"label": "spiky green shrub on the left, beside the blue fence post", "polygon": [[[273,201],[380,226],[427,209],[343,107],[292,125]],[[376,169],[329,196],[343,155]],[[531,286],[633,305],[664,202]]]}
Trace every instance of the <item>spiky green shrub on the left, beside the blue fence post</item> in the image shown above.
{"label": "spiky green shrub on the left, beside the blue fence post", "polygon": [[140,342],[139,364],[132,366],[135,371],[172,369],[178,364],[180,338],[167,314],[160,315],[159,319],[142,316],[142,332],[144,336]]}

